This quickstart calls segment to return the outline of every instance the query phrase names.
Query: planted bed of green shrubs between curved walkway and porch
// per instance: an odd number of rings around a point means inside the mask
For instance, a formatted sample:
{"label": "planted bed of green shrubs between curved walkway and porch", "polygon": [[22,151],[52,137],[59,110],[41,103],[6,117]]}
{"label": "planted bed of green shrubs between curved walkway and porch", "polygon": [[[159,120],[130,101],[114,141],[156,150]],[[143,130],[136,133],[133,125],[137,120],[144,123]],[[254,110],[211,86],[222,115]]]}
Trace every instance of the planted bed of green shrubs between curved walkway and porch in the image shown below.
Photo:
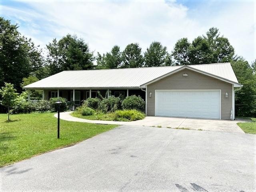
{"label": "planted bed of green shrubs between curved walkway and porch", "polygon": [[135,121],[145,118],[145,102],[140,96],[128,96],[125,99],[110,96],[108,98],[88,98],[71,115],[89,120]]}

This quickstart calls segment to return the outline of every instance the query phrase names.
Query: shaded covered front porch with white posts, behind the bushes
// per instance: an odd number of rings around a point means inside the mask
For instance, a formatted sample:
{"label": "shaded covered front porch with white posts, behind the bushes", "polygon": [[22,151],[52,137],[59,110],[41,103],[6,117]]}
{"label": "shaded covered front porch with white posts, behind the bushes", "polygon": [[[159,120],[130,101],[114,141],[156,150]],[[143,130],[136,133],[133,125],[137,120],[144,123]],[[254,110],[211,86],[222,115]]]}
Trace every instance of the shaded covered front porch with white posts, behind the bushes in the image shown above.
{"label": "shaded covered front porch with white posts, behind the bushes", "polygon": [[[99,97],[98,92],[102,97],[109,96],[121,96],[127,97],[131,95],[141,96],[146,99],[146,90],[142,89],[44,89],[42,94],[43,100],[49,100],[50,98],[62,97],[66,98],[68,102],[72,101],[72,105],[69,106],[70,110],[75,110],[76,107],[82,104],[83,100],[87,98]],[[28,100],[30,100],[30,92],[28,92]]]}

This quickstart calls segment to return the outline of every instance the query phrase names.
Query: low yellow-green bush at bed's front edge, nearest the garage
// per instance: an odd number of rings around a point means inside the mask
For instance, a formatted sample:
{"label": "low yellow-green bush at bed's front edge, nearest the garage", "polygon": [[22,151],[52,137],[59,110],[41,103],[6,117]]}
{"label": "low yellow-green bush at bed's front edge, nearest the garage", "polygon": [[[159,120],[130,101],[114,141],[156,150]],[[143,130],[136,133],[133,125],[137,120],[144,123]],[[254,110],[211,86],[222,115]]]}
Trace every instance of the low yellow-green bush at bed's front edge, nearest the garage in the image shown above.
{"label": "low yellow-green bush at bed's front edge, nearest the garage", "polygon": [[140,120],[145,117],[145,114],[138,110],[117,110],[114,112],[116,115],[115,119],[124,118],[131,121]]}

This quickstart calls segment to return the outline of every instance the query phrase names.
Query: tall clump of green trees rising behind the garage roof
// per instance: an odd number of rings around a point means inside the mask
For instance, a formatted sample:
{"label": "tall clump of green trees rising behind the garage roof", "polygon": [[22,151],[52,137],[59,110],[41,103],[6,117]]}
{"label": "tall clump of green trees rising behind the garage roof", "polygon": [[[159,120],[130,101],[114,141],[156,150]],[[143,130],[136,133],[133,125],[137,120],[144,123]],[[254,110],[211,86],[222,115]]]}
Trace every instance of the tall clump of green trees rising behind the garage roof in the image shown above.
{"label": "tall clump of green trees rising behind the garage roof", "polygon": [[192,43],[187,38],[178,40],[172,56],[178,65],[230,62],[234,48],[217,28],[210,28],[206,36],[198,36]]}

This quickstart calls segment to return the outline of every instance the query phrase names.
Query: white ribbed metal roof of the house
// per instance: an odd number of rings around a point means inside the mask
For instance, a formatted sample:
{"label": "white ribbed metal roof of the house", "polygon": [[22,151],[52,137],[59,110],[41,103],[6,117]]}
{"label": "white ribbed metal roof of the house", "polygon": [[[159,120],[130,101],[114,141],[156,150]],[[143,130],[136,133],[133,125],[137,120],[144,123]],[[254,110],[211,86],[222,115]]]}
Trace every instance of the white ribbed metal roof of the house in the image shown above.
{"label": "white ribbed metal roof of the house", "polygon": [[[238,84],[230,63],[189,65],[188,67]],[[24,86],[24,88],[140,88],[143,84],[182,68],[184,66],[63,71]]]}

